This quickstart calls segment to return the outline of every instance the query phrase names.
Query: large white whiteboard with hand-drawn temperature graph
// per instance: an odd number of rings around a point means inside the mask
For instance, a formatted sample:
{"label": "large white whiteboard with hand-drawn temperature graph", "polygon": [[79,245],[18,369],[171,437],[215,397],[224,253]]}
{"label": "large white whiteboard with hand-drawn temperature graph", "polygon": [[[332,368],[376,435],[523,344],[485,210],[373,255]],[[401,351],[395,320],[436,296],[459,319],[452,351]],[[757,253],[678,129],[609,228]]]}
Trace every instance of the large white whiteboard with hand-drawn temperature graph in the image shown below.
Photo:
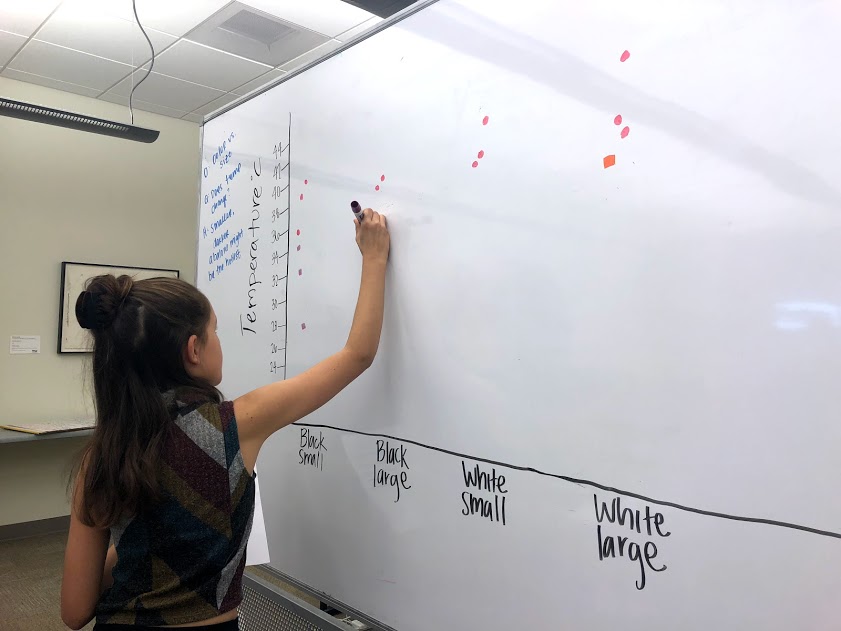
{"label": "large white whiteboard with hand-drawn temperature graph", "polygon": [[199,240],[228,394],[344,344],[352,199],[392,231],[374,367],[261,454],[272,565],[401,631],[837,628],[839,30],[808,0],[441,0],[208,123],[202,194],[241,164],[239,260],[208,281]]}

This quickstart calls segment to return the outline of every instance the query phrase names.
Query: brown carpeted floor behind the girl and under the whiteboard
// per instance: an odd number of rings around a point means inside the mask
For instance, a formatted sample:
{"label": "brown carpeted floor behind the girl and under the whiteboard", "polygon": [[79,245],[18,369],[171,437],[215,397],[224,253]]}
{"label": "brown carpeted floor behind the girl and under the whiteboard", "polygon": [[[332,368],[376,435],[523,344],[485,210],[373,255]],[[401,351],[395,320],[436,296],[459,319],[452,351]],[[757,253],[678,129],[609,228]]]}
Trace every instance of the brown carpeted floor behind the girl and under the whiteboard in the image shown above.
{"label": "brown carpeted floor behind the girl and under the whiteboard", "polygon": [[[0,541],[0,631],[66,631],[61,572],[66,533]],[[318,607],[318,601],[259,568],[246,570]],[[93,629],[93,624],[85,627]]]}

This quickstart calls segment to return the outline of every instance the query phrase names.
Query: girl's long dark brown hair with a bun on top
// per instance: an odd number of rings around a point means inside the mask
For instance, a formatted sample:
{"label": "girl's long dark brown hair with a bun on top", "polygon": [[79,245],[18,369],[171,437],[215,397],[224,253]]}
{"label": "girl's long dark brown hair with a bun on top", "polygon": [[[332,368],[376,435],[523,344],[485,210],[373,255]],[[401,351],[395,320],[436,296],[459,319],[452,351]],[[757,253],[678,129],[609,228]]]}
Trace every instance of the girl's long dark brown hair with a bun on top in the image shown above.
{"label": "girl's long dark brown hair with a bun on top", "polygon": [[174,278],[106,274],[79,294],[76,319],[93,335],[96,408],[96,429],[77,466],[83,523],[108,528],[160,499],[158,464],[172,422],[162,393],[186,387],[221,400],[184,367],[187,341],[205,341],[210,317],[205,295]]}

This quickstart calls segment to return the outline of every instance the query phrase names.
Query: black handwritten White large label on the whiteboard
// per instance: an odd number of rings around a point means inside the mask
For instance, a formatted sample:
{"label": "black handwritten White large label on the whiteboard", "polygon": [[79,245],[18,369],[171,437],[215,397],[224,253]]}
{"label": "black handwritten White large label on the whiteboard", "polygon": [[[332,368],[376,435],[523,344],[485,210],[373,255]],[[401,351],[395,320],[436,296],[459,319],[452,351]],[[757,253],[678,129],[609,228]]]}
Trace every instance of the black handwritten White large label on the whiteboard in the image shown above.
{"label": "black handwritten White large label on the whiteboard", "polygon": [[[610,504],[599,501],[598,495],[593,493],[593,506],[596,510],[596,538],[599,544],[599,561],[605,559],[626,558],[633,563],[639,564],[639,578],[635,581],[637,589],[645,589],[645,571],[646,568],[653,572],[663,572],[666,570],[666,564],[660,565],[653,563],[657,557],[657,544],[650,539],[656,537],[668,537],[672,533],[668,530],[663,531],[666,518],[663,513],[651,513],[651,507],[646,504],[645,510],[632,509],[622,507],[622,498],[614,497]],[[619,526],[623,532],[630,531],[631,536],[634,533],[642,535],[641,537],[621,536],[621,535],[607,535],[602,532],[602,523],[605,528],[608,525]],[[625,530],[627,528],[627,530]]]}

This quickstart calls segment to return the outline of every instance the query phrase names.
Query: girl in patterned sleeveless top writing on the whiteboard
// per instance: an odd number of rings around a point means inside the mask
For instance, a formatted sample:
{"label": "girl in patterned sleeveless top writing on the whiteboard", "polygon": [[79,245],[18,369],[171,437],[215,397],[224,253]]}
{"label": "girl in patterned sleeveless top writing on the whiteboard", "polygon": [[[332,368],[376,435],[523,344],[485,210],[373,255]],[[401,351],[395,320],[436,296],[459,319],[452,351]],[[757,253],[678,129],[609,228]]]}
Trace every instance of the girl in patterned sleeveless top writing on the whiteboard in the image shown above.
{"label": "girl in patterned sleeveless top writing on the whiteboard", "polygon": [[[61,617],[81,629],[238,629],[254,465],[281,427],[374,360],[389,234],[356,221],[362,281],[347,345],[309,371],[224,401],[207,298],[181,280],[98,276],[76,302],[93,334],[96,430],[79,465]],[[114,545],[109,549],[108,542]]]}

